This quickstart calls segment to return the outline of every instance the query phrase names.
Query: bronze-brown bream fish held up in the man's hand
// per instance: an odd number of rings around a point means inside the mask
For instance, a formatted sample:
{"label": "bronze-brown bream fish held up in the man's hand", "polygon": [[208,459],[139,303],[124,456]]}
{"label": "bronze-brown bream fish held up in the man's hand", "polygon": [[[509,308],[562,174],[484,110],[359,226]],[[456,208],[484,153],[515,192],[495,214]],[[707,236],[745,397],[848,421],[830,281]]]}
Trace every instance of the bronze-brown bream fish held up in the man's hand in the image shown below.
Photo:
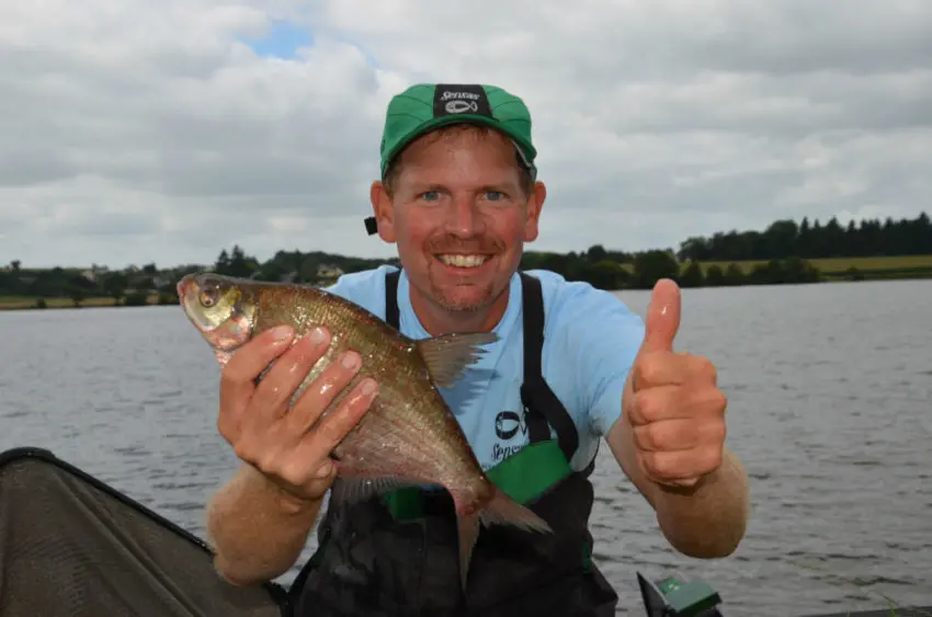
{"label": "bronze-brown bream fish held up in the man's hand", "polygon": [[552,532],[543,518],[489,480],[436,389],[458,380],[484,353],[481,345],[498,340],[495,333],[454,333],[416,341],[354,302],[322,289],[214,273],[186,275],[178,284],[178,295],[189,320],[221,365],[243,343],[276,325],[293,327],[296,338],[317,325],[326,327],[330,346],[295,398],[341,353],[360,353],[362,368],[322,416],[337,409],[363,377],[374,378],[379,390],[360,423],[332,453],[340,481],[334,483],[331,500],[353,502],[402,487],[443,487],[455,505],[464,587],[480,521]]}

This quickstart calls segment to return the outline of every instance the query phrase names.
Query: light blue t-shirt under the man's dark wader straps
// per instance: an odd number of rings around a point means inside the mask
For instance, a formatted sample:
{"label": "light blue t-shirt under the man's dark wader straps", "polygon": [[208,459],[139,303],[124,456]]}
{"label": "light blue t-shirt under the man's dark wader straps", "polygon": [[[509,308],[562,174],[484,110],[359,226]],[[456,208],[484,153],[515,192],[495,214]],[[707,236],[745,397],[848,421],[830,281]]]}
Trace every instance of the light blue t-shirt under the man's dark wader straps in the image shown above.
{"label": "light blue t-shirt under the man's dark wader straps", "polygon": [[[385,319],[385,275],[395,270],[384,265],[346,274],[327,290]],[[541,281],[544,295],[544,379],[576,423],[579,449],[570,462],[581,470],[621,415],[625,378],[644,339],[644,322],[617,297],[587,283],[568,282],[547,271],[527,274]],[[401,332],[427,339],[430,334],[414,315],[408,292],[402,271],[398,281]],[[453,388],[440,389],[485,469],[530,443],[521,402],[521,277],[515,274],[508,308],[495,329],[499,340],[484,346],[486,353]]]}

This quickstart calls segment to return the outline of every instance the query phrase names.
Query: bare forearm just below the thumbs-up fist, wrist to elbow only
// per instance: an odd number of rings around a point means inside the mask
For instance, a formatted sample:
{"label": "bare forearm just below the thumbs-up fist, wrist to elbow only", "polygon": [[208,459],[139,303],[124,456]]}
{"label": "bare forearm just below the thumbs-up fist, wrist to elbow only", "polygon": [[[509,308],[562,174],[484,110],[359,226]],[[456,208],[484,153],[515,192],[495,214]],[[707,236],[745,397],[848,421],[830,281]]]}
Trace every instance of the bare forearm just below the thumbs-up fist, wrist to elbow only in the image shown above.
{"label": "bare forearm just below the thumbs-up fist, wrist to elbow only", "polygon": [[670,544],[690,557],[726,557],[738,548],[750,514],[748,478],[725,449],[721,466],[692,489],[657,487],[657,522]]}

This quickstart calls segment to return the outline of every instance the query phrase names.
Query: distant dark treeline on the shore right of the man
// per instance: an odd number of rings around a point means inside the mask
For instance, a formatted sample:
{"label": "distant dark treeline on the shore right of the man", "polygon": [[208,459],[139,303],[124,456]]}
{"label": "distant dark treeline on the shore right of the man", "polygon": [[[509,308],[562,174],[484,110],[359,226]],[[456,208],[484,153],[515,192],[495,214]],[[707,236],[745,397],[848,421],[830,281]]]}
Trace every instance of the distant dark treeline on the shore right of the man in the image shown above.
{"label": "distant dark treeline on the shore right of the man", "polygon": [[[732,230],[711,238],[689,238],[675,252],[629,253],[602,245],[580,253],[527,252],[522,267],[550,270],[603,289],[647,289],[664,277],[683,287],[719,287],[932,276],[930,263],[884,260],[902,255],[932,255],[932,222],[924,212],[911,220],[865,219],[846,227],[834,217],[826,225],[818,220],[810,224],[808,218],[799,224],[777,220],[764,231]],[[812,262],[843,258],[878,261],[870,270],[833,263],[828,272]]]}

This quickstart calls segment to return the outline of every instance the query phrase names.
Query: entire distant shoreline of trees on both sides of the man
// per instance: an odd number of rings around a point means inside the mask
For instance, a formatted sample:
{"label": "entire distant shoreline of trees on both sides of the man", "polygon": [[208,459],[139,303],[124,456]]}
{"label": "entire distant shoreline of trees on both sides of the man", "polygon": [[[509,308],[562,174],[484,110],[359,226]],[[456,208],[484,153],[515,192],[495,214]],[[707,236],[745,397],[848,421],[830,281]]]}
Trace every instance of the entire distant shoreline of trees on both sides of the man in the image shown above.
{"label": "entire distant shoreline of trees on both sides of the man", "polygon": [[[834,218],[823,226],[818,220],[809,224],[808,219],[803,219],[799,225],[778,220],[765,231],[729,231],[711,238],[689,238],[680,244],[679,251],[624,252],[602,245],[569,253],[527,251],[521,267],[549,270],[602,289],[646,289],[663,277],[673,278],[684,287],[698,287],[932,276],[932,261],[906,263],[893,255],[932,255],[932,224],[925,213],[912,220],[863,220],[846,228]],[[822,272],[814,263],[818,260],[826,263],[825,260],[831,258],[877,258],[877,264],[862,270],[842,266],[836,260],[834,270]],[[117,305],[143,305],[155,297],[158,302],[169,304],[177,301],[174,287],[182,276],[205,268],[260,281],[327,285],[343,273],[386,263],[397,265],[398,260],[294,250],[279,251],[270,260],[260,262],[241,247],[220,251],[213,264],[169,268],[150,263],[120,271],[98,265],[42,270],[24,268],[19,261],[13,261],[0,268],[0,296],[8,299],[69,298],[76,306],[88,298],[113,298],[113,304]]]}

